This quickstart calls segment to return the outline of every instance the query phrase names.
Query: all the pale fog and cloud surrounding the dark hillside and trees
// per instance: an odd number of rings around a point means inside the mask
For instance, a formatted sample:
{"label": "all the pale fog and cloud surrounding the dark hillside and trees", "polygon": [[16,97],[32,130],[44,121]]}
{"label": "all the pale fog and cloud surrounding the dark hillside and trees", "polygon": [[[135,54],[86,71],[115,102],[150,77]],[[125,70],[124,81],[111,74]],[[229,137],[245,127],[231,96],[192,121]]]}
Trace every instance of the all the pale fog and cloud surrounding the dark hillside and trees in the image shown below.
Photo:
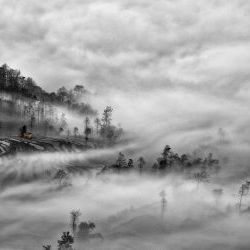
{"label": "all the pale fog and cloud surrounding the dark hillside and trees", "polygon": [[[89,94],[82,101],[99,116],[112,106],[112,123],[124,129],[113,147],[0,158],[1,250],[56,249],[62,232],[70,230],[73,209],[104,238],[76,239],[76,250],[249,249],[249,197],[243,197],[244,213],[238,204],[250,174],[249,2],[0,5],[1,64],[20,69],[47,91],[84,85]],[[83,132],[84,116],[56,111],[66,114],[70,129]],[[15,121],[11,112],[1,119]],[[221,171],[199,187],[174,174],[98,174],[119,152],[134,161],[143,156],[149,170],[165,145],[179,155],[205,158],[211,152]],[[54,178],[59,169],[69,173],[67,185]],[[214,189],[223,189],[220,199]]]}

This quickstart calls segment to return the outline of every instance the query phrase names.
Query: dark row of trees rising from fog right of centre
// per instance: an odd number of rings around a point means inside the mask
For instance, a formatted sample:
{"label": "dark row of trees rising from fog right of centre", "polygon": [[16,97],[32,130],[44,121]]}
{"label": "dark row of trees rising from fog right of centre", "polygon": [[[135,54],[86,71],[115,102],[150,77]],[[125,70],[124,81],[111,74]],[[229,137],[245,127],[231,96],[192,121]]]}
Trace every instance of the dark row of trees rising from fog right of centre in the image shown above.
{"label": "dark row of trees rising from fog right of centre", "polygon": [[[134,163],[133,159],[126,159],[125,155],[120,152],[116,163],[103,169],[124,171],[138,169],[140,173],[150,168],[145,168],[146,161],[144,157],[139,157]],[[217,173],[220,170],[219,160],[214,159],[211,153],[204,159],[187,154],[178,155],[174,153],[169,145],[166,145],[161,156],[151,166],[152,172],[156,173],[188,173],[197,180],[197,183],[206,181],[209,175]]]}

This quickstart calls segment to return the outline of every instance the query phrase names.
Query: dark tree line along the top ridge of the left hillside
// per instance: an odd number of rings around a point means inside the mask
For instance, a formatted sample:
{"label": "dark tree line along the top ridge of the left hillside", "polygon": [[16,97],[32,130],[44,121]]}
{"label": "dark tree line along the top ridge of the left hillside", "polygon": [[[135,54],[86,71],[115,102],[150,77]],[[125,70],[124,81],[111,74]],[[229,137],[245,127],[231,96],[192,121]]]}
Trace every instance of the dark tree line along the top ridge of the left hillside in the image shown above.
{"label": "dark tree line along the top ridge of the left hillside", "polygon": [[82,85],[73,89],[59,88],[56,92],[48,93],[39,87],[31,77],[24,77],[20,70],[10,68],[7,64],[0,67],[0,91],[30,98],[42,103],[64,105],[80,114],[96,115],[96,111],[81,99],[87,93]]}

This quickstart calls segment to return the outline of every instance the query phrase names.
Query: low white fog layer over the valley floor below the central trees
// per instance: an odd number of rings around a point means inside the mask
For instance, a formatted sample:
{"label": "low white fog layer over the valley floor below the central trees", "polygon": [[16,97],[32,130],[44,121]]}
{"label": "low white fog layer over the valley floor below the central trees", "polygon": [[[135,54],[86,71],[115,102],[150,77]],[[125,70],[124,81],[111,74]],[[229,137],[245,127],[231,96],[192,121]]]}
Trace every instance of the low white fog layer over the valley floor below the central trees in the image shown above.
{"label": "low white fog layer over the valley floor below the central trees", "polygon": [[[247,249],[249,215],[239,215],[237,207],[245,179],[219,177],[197,188],[194,180],[178,175],[96,175],[103,162],[114,161],[129,146],[134,145],[2,158],[0,249],[41,249],[45,243],[56,249],[60,234],[70,230],[73,209],[81,210],[82,221],[95,222],[95,232],[104,237],[76,240],[76,249]],[[80,167],[72,172],[69,186],[59,187],[46,175],[46,170],[67,169],[75,161]],[[11,172],[16,172],[15,181],[4,182]],[[219,200],[212,193],[216,188],[223,189]],[[164,220],[162,190],[167,199]],[[244,209],[248,204],[244,197]]]}

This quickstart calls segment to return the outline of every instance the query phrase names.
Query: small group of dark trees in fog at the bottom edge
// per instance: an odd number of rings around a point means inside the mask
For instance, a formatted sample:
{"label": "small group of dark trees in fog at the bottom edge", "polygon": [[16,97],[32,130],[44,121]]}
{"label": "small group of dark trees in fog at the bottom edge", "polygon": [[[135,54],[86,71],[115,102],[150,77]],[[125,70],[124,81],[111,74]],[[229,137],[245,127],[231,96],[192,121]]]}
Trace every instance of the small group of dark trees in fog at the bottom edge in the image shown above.
{"label": "small group of dark trees in fog at the bottom edge", "polygon": [[[58,250],[73,250],[75,239],[80,241],[88,241],[92,238],[103,239],[100,233],[94,233],[95,223],[91,221],[82,221],[79,223],[81,216],[80,210],[70,212],[70,231],[63,232],[60,239],[57,241]],[[44,250],[51,250],[50,244],[43,245]]]}

